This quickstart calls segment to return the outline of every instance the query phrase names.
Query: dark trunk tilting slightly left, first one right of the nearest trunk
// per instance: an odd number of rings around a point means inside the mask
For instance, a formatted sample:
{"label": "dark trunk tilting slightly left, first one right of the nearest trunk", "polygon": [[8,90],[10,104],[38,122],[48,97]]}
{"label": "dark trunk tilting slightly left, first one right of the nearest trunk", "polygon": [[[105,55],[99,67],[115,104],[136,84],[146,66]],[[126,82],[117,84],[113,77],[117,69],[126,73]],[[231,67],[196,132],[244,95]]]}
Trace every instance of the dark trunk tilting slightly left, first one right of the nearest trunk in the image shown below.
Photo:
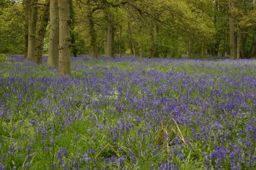
{"label": "dark trunk tilting slightly left, first one right of the nearest trunk", "polygon": [[87,18],[89,20],[90,53],[93,58],[98,58],[97,35],[94,28],[94,18],[91,9],[89,9]]}

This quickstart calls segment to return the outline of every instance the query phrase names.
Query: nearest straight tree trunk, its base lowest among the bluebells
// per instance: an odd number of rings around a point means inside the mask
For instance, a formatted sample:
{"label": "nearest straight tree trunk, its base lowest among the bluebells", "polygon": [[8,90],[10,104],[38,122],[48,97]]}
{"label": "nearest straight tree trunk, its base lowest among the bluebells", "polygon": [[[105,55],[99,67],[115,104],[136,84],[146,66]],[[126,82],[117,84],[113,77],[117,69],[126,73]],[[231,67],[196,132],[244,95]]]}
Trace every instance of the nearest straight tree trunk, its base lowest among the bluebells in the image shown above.
{"label": "nearest straight tree trunk, its base lowest among the bluebells", "polygon": [[69,0],[59,0],[59,75],[71,75]]}

